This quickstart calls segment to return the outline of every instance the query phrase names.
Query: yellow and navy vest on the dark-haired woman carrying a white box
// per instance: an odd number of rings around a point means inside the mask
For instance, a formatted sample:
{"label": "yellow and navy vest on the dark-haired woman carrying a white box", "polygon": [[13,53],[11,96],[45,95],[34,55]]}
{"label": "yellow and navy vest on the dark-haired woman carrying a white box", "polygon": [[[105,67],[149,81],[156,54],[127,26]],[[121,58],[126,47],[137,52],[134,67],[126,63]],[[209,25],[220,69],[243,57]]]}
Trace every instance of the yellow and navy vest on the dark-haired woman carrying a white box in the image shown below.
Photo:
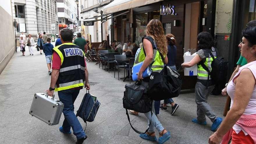
{"label": "yellow and navy vest on the dark-haired woman carrying a white box", "polygon": [[[214,56],[214,58],[217,57],[217,49],[212,47],[210,51],[204,50],[205,58],[199,62],[198,68],[197,68],[197,79],[202,80],[208,80],[208,72],[202,67],[202,65],[205,65],[210,71],[211,71],[211,63],[214,60],[213,57],[211,57],[210,53]],[[211,79],[211,77],[209,77]]]}

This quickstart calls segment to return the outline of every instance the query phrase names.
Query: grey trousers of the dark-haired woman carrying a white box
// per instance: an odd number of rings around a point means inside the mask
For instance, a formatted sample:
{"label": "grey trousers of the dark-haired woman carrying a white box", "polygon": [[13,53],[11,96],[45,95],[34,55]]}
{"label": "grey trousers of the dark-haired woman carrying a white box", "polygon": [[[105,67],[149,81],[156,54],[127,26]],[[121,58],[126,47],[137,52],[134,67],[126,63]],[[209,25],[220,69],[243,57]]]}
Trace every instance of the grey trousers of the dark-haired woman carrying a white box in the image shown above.
{"label": "grey trousers of the dark-haired woman carrying a white box", "polygon": [[206,121],[205,115],[214,122],[217,118],[216,114],[211,109],[211,106],[207,103],[208,96],[214,89],[214,85],[204,86],[202,83],[197,82],[195,84],[195,103],[197,104],[197,120],[199,122]]}

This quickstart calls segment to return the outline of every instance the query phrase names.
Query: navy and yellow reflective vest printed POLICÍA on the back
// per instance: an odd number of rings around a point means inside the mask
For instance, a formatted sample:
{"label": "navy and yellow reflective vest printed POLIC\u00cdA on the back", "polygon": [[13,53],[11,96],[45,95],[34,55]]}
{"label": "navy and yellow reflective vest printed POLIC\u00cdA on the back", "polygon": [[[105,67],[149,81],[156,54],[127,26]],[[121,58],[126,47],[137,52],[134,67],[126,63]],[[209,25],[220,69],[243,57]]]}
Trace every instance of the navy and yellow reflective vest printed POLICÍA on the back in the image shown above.
{"label": "navy and yellow reflective vest printed POLIC\u00cdA on the back", "polygon": [[67,42],[54,47],[53,50],[61,58],[61,68],[55,85],[55,91],[84,86],[84,52],[79,46]]}

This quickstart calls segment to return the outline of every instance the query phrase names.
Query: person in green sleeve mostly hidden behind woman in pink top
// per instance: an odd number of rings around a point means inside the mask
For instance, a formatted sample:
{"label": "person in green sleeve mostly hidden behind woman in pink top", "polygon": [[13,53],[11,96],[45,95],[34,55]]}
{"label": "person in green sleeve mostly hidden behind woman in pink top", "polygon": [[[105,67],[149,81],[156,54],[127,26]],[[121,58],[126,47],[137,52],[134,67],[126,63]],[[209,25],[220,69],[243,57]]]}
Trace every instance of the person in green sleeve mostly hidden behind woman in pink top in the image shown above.
{"label": "person in green sleeve mostly hidden behind woman in pink top", "polygon": [[[246,24],[246,27],[250,27],[250,26],[256,26],[256,20],[252,20],[252,21],[250,21],[250,22],[248,22],[247,24]],[[229,81],[228,82],[230,82],[233,78],[234,78],[234,76],[237,74],[237,72],[239,71],[239,68],[241,67],[241,66],[243,66],[243,65],[246,65],[247,64],[247,61],[246,61],[246,59],[242,56],[242,55],[240,55],[240,58],[239,58],[239,60],[237,61],[237,67],[236,67],[236,69],[234,70],[234,72],[232,73],[232,75],[231,75],[231,77],[230,77],[230,79],[229,79]],[[221,91],[221,93],[222,93],[222,95],[227,95],[227,83],[226,83],[226,86],[225,86],[225,88]]]}

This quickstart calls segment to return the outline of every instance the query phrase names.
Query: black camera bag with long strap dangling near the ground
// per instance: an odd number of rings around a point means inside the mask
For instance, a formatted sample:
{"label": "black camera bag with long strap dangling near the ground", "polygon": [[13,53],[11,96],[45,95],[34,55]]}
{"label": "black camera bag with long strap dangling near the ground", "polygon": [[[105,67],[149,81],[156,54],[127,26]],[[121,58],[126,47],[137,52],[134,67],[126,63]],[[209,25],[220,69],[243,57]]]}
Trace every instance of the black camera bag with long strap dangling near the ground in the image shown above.
{"label": "black camera bag with long strap dangling near the ground", "polygon": [[[153,115],[152,99],[147,94],[147,88],[144,87],[143,85],[141,85],[141,83],[139,81],[136,81],[136,83],[134,83],[134,84],[126,84],[125,85],[125,92],[124,92],[124,97],[123,97],[123,107],[126,110],[126,115],[127,115],[130,125],[131,125],[131,122],[130,122],[130,117],[129,117],[127,109],[134,110],[139,113],[147,113],[147,112],[151,111],[151,117]],[[151,119],[150,119],[150,124],[151,124]],[[148,131],[149,126],[145,132],[140,132],[140,131],[136,130],[132,125],[131,125],[131,128],[138,134],[145,134]]]}

